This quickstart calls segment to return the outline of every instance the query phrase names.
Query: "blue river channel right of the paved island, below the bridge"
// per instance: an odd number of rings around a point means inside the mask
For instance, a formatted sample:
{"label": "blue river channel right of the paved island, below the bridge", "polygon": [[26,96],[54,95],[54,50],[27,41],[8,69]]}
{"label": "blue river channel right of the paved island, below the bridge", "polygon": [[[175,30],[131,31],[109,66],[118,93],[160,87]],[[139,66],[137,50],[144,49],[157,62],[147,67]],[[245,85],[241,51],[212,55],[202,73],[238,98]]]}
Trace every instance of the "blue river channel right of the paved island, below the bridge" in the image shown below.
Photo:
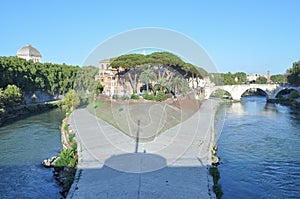
{"label": "blue river channel right of the paved island, below the bridge", "polygon": [[299,112],[257,96],[220,107],[223,199],[300,198]]}

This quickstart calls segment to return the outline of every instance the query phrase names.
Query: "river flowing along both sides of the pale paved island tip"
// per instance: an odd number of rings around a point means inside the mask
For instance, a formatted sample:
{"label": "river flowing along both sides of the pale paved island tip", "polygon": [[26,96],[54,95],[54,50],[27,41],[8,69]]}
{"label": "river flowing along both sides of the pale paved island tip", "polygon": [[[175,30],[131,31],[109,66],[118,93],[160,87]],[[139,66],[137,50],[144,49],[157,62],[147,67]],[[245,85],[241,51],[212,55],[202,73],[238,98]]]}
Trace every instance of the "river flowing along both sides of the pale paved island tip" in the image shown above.
{"label": "river flowing along both sides of the pale paved island tip", "polygon": [[[53,110],[0,128],[0,198],[60,198],[41,161],[61,149],[63,112]],[[300,197],[300,114],[244,97],[216,118],[223,198]]]}

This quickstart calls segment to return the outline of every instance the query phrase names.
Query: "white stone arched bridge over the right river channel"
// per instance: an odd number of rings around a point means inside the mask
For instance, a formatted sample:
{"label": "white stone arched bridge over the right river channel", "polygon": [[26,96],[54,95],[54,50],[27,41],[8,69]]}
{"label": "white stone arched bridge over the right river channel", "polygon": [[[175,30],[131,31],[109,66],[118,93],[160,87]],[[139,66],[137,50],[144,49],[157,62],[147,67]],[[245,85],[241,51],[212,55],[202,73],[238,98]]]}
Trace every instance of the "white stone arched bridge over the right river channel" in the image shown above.
{"label": "white stone arched bridge over the right river channel", "polygon": [[242,95],[250,89],[262,90],[267,97],[267,100],[276,99],[279,92],[285,89],[293,89],[300,93],[300,88],[288,84],[244,84],[244,85],[224,85],[224,86],[211,86],[205,88],[205,99],[208,99],[212,93],[221,89],[230,93],[235,101],[240,101]]}

